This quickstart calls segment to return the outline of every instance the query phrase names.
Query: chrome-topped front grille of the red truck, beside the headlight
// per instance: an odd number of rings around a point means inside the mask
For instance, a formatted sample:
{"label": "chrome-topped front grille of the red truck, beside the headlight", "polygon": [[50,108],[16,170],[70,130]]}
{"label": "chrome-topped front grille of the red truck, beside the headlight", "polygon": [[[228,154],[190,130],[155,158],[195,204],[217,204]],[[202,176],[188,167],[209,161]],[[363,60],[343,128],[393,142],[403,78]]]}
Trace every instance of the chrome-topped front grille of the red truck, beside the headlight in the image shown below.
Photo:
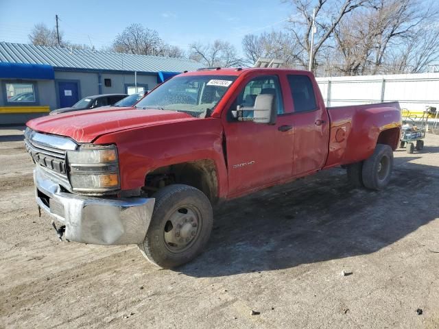
{"label": "chrome-topped front grille of the red truck, beside the headlight", "polygon": [[69,138],[40,134],[29,128],[25,130],[25,147],[38,167],[68,190],[71,189],[67,176],[67,149],[78,145]]}

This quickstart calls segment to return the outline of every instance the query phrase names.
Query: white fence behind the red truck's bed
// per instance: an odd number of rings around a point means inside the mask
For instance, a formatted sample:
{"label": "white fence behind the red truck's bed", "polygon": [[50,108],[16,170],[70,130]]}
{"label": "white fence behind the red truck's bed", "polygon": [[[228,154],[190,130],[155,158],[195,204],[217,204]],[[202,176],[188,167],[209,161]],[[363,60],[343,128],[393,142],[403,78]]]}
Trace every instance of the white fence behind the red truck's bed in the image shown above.
{"label": "white fence behind the red truck's bed", "polygon": [[318,77],[327,106],[399,101],[401,108],[423,112],[439,110],[439,73]]}

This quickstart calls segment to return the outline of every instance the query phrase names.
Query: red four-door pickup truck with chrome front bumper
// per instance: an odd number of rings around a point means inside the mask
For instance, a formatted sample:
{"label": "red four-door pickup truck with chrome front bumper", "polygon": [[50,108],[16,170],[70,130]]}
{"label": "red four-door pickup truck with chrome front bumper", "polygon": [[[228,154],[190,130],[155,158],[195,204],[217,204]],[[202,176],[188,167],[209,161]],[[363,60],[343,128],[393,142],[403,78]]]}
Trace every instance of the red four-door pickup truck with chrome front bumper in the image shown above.
{"label": "red four-door pickup truck with chrome front bumper", "polygon": [[205,69],[134,108],[29,121],[25,145],[60,237],[137,244],[171,268],[202,252],[218,202],[336,166],[384,188],[400,130],[399,103],[326,108],[307,71]]}

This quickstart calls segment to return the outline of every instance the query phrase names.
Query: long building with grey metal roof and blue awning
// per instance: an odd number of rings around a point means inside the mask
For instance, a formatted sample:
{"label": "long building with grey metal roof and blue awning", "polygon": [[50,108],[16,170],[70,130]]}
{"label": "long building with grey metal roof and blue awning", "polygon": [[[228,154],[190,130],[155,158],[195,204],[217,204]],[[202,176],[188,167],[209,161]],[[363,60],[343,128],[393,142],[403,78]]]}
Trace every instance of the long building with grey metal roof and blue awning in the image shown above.
{"label": "long building with grey metal roof and blue awning", "polygon": [[150,90],[201,67],[186,58],[0,42],[0,125],[25,123],[91,95]]}

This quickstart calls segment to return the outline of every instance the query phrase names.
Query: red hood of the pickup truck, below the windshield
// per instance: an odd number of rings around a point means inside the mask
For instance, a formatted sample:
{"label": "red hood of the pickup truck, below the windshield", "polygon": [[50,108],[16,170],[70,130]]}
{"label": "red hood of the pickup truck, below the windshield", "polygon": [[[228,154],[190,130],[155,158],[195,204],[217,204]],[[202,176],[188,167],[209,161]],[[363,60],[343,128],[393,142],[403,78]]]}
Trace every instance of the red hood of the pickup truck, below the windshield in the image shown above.
{"label": "red hood of the pickup truck, below the windshield", "polygon": [[28,121],[26,125],[37,132],[68,136],[78,143],[91,143],[111,132],[187,120],[196,118],[176,111],[109,107],[41,117]]}

